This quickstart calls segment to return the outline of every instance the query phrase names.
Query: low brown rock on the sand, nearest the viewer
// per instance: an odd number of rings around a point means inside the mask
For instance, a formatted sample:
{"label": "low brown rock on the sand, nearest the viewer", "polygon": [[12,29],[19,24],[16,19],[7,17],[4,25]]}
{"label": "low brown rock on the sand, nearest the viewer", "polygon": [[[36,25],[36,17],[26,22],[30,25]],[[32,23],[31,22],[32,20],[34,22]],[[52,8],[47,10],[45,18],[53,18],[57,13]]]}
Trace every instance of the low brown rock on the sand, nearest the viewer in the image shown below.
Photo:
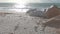
{"label": "low brown rock on the sand, nearest the viewer", "polygon": [[45,30],[46,26],[60,29],[60,15],[53,17],[51,19],[48,19],[47,22],[43,23],[43,29],[42,31]]}

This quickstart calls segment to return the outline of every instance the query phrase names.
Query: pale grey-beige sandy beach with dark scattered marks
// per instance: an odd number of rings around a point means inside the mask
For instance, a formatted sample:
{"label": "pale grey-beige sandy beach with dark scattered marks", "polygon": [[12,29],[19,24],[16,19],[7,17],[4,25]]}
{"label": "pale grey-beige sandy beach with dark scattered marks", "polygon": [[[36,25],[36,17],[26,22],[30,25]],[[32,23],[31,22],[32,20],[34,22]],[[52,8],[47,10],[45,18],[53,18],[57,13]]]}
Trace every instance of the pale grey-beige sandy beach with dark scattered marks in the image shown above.
{"label": "pale grey-beige sandy beach with dark scattered marks", "polygon": [[0,16],[0,34],[57,34],[52,27],[46,27],[41,31],[41,24],[47,20],[25,13],[6,14]]}

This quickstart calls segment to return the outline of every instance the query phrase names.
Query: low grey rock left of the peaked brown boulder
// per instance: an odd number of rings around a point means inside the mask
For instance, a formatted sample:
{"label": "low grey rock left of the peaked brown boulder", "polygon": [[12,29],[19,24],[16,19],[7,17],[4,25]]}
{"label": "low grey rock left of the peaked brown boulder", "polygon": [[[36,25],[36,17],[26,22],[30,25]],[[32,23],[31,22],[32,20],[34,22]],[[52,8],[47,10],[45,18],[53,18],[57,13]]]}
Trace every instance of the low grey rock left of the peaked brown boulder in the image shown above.
{"label": "low grey rock left of the peaked brown boulder", "polygon": [[30,10],[27,11],[27,13],[30,16],[36,16],[36,17],[42,17],[42,16],[44,16],[44,12],[40,11],[40,10],[37,10],[37,9],[30,9]]}

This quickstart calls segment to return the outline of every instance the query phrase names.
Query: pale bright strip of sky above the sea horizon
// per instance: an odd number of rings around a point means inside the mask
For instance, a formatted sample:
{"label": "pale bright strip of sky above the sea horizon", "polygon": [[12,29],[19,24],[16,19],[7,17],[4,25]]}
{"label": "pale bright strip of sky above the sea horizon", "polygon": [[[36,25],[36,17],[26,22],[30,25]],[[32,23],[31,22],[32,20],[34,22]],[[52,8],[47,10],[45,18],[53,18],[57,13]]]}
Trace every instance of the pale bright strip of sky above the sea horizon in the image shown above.
{"label": "pale bright strip of sky above the sea horizon", "polygon": [[0,2],[16,2],[16,3],[60,3],[60,0],[0,0]]}

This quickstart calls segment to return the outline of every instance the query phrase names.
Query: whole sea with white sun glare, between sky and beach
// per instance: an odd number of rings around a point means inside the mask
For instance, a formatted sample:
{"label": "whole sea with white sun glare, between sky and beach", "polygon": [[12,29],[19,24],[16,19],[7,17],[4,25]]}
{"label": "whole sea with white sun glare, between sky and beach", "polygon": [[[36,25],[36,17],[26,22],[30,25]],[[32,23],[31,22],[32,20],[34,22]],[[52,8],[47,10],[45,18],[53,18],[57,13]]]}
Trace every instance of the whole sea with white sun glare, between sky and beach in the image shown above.
{"label": "whole sea with white sun glare, between sky and beach", "polygon": [[[17,5],[18,7],[15,5]],[[51,5],[56,5],[58,8],[60,8],[60,3],[27,3],[26,5],[18,3],[0,3],[0,10],[16,10],[17,12],[26,12],[30,8],[44,10],[46,8],[49,8]]]}

